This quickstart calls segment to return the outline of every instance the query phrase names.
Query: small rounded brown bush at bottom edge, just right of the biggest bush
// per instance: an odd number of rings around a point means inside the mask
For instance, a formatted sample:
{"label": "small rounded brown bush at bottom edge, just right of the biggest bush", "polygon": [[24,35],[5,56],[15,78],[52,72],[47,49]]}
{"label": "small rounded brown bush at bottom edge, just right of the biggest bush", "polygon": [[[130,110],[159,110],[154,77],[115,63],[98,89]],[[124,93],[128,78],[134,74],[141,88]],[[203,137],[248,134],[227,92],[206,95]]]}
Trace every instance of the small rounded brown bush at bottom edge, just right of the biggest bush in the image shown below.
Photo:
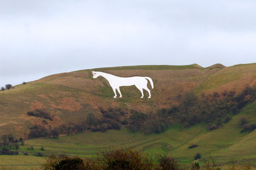
{"label": "small rounded brown bush at bottom edge, just right of the biggest bush", "polygon": [[158,156],[159,170],[179,170],[178,161],[167,155]]}

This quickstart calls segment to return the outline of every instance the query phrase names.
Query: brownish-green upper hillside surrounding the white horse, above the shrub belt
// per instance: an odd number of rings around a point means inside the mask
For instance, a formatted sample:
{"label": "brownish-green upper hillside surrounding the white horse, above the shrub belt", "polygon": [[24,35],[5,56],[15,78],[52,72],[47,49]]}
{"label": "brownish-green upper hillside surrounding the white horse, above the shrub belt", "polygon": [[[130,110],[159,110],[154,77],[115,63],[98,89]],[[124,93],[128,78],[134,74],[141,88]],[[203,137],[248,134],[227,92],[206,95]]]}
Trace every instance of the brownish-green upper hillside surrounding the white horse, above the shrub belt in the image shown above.
{"label": "brownish-green upper hillside surrounding the white horse, above the shrub belt", "polygon": [[[91,71],[103,71],[121,77],[148,76],[154,82],[152,98],[140,98],[134,86],[121,87],[123,98],[113,99],[113,91],[106,79],[92,78]],[[124,66],[95,68],[49,75],[42,79],[19,84],[11,90],[0,91],[0,134],[13,132],[23,137],[33,124],[43,121],[26,113],[44,109],[54,115],[49,126],[63,122],[85,120],[89,113],[99,113],[100,108],[121,106],[147,112],[168,108],[179,102],[186,91],[202,93],[234,90],[240,92],[246,85],[256,85],[256,64],[239,64],[225,67],[221,64],[202,68],[197,64],[187,66]],[[148,84],[148,87],[151,87]]]}

